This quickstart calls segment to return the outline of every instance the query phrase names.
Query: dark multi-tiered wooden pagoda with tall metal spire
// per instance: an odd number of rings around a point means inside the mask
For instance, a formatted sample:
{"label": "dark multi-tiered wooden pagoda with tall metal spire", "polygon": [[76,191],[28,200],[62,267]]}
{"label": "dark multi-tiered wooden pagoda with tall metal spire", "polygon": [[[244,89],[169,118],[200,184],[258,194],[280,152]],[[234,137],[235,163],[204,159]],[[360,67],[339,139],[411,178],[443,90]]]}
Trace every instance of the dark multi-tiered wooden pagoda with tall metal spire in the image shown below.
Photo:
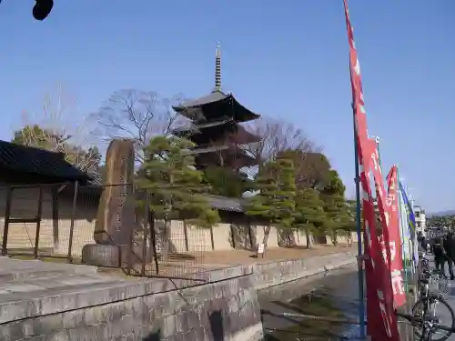
{"label": "dark multi-tiered wooden pagoda with tall metal spire", "polygon": [[178,128],[173,134],[196,144],[191,153],[196,155],[199,169],[218,165],[238,170],[256,165],[254,157],[248,155],[242,145],[258,142],[260,137],[239,124],[260,115],[239,104],[234,95],[221,90],[219,44],[215,56],[215,88],[208,95],[173,107],[178,114],[191,120],[189,126]]}

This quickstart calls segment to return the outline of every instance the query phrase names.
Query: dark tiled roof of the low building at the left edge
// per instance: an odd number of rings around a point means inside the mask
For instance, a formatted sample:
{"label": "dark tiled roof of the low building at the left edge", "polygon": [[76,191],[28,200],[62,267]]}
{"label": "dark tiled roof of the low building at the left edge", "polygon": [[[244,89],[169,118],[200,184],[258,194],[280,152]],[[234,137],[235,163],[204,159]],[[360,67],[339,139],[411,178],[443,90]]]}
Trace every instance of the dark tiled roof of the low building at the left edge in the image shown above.
{"label": "dark tiled roof of the low building at the left edge", "polygon": [[0,140],[0,167],[15,172],[54,177],[61,181],[86,181],[89,176],[68,164],[60,153]]}

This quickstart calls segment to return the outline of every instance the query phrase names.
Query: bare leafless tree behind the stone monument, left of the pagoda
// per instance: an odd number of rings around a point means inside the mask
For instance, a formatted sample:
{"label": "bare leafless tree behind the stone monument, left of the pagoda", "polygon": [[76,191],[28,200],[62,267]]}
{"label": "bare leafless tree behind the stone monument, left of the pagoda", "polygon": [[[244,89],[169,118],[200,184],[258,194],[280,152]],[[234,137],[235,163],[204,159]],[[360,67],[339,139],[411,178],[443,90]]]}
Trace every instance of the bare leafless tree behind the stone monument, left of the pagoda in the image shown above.
{"label": "bare leafless tree behind the stone monument, left of the pagoda", "polygon": [[104,141],[128,138],[136,143],[136,161],[142,163],[142,147],[154,135],[169,135],[185,119],[177,115],[172,105],[181,103],[183,96],[161,98],[155,92],[136,89],[116,91],[99,110],[92,114],[96,121],[95,134]]}

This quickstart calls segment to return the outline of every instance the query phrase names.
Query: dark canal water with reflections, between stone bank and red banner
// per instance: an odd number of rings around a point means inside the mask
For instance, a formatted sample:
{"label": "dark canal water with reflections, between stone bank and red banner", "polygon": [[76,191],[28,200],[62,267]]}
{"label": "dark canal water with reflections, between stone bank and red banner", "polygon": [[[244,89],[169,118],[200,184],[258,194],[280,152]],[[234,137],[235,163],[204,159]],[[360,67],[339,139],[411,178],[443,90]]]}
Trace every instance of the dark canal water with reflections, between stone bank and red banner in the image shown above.
{"label": "dark canal water with reflections, between stone bank and red banner", "polygon": [[[313,278],[298,280],[258,292],[261,309],[275,314],[298,313],[329,316],[336,319],[358,319],[359,297],[357,267],[339,270]],[[358,326],[334,322],[264,316],[268,341],[353,340]]]}

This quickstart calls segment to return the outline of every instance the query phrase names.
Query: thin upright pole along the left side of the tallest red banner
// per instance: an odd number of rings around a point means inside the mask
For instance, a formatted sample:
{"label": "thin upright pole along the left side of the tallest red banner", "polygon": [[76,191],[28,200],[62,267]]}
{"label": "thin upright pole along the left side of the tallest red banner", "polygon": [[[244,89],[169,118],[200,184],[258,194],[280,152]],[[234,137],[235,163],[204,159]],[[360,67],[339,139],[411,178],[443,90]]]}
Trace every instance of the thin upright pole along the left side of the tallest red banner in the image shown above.
{"label": "thin upright pole along the left side of the tallest red banner", "polygon": [[[362,256],[362,223],[360,203],[360,171],[359,171],[359,145],[357,144],[356,109],[352,103],[352,119],[354,128],[354,164],[356,171],[356,229],[357,229],[357,250],[359,257]],[[360,259],[360,258],[359,258]],[[363,293],[363,262],[359,262],[359,328],[360,338],[365,338],[365,298]]]}

